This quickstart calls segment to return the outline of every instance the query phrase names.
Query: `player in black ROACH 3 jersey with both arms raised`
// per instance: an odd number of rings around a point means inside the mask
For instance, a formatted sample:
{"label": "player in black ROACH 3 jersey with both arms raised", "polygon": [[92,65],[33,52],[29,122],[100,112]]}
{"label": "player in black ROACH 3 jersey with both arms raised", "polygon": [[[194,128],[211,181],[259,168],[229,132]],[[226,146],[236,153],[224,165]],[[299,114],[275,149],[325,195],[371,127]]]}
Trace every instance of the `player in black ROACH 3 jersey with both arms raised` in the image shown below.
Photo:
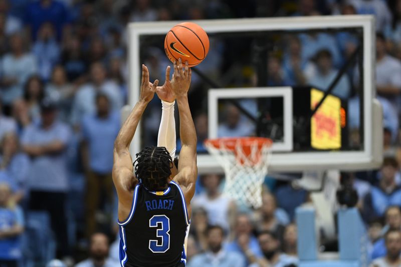
{"label": "player in black ROACH 3 jersey with both arms raised", "polygon": [[[172,159],[165,147],[145,147],[132,164],[129,145],[158,81],[149,82],[142,66],[140,100],[122,125],[114,144],[113,181],[118,194],[120,263],[126,267],[184,266],[184,238],[190,219],[190,200],[195,191],[196,134],[187,92],[191,71],[174,63],[174,73],[162,86],[176,98],[182,148],[178,173],[171,179]],[[135,171],[135,174],[133,173]]]}

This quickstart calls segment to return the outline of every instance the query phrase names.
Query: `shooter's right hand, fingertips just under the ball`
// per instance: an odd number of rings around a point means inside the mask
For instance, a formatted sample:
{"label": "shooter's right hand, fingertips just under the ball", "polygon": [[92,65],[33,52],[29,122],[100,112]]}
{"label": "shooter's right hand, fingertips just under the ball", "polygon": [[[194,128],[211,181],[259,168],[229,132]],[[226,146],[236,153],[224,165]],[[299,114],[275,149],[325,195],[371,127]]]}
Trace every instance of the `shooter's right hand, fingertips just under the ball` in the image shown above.
{"label": "shooter's right hand, fingertips just under the ball", "polygon": [[185,62],[185,67],[182,67],[181,58],[178,63],[174,62],[174,73],[171,80],[171,89],[176,97],[184,96],[188,93],[191,83],[191,69],[188,67],[188,62]]}

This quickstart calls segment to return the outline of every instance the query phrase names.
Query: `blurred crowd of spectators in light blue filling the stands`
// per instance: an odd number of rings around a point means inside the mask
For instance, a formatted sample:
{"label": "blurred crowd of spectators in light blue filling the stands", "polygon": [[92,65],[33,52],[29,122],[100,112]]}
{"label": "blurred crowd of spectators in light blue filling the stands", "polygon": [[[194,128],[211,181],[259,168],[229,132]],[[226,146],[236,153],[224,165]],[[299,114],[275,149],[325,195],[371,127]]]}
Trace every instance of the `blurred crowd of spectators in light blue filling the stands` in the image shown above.
{"label": "blurred crowd of spectators in light blue filling the stands", "polygon": [[[129,93],[127,23],[341,14],[376,17],[385,148],[381,169],[350,173],[342,183],[358,193],[371,259],[377,266],[401,262],[400,0],[0,0],[0,266],[119,266],[111,169]],[[325,90],[357,44],[347,33],[292,35],[282,53],[266,59],[268,85]],[[161,46],[141,55],[151,80],[164,77],[169,64]],[[227,86],[255,86],[251,61],[238,53],[243,47],[212,38],[198,68]],[[351,130],[359,127],[358,75],[351,68],[332,92],[348,100]],[[189,97],[199,153],[206,152],[209,86],[194,74]],[[144,144],[156,144],[160,115],[154,99],[142,123]],[[236,107],[223,116],[220,136],[254,133]],[[188,266],[296,266],[295,208],[309,193],[267,179],[262,208],[250,210],[221,193],[224,179],[198,179]]]}

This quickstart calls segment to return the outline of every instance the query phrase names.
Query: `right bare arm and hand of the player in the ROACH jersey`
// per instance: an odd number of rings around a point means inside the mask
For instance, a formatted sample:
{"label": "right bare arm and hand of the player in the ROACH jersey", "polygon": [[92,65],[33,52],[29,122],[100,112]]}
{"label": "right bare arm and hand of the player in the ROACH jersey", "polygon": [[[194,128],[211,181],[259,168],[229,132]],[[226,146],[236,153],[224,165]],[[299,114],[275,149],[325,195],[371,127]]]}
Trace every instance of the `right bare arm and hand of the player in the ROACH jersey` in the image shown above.
{"label": "right bare arm and hand of the player in the ROACH jersey", "polygon": [[174,74],[171,88],[176,97],[179,112],[179,134],[181,139],[181,151],[179,153],[178,174],[174,181],[179,184],[185,195],[186,204],[195,193],[197,177],[196,167],[196,132],[188,104],[188,89],[191,81],[191,70],[188,64],[182,67],[181,59],[178,65],[174,62]]}

